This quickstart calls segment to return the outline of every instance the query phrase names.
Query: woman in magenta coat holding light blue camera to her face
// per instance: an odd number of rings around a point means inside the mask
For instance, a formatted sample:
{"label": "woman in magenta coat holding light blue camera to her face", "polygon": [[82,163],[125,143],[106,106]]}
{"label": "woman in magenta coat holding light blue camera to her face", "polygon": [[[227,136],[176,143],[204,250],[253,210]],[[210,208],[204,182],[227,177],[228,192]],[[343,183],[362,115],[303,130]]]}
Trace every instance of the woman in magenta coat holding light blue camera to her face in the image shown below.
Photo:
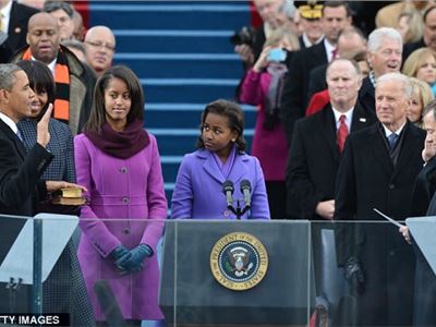
{"label": "woman in magenta coat holding light blue camera to her face", "polygon": [[295,34],[279,28],[271,33],[264,50],[249,70],[239,100],[258,106],[252,155],[261,161],[265,173],[268,203],[272,219],[286,217],[284,170],[288,143],[278,118],[278,107],[288,71],[286,60],[290,51],[300,48]]}

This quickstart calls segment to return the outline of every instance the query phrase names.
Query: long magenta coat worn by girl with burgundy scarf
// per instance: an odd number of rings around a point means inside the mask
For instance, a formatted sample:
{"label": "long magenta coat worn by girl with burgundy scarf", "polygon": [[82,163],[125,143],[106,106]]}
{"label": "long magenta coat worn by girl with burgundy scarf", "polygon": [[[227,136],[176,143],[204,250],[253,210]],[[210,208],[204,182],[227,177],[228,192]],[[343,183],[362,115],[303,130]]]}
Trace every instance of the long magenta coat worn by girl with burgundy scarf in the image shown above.
{"label": "long magenta coat worn by girl with burgundy scarf", "polygon": [[[149,145],[128,159],[107,155],[84,134],[74,138],[77,183],[88,189],[89,201],[82,207],[78,261],[97,320],[105,320],[94,292],[99,279],[109,282],[125,319],[162,318],[156,244],[167,199],[156,138],[149,137]],[[142,271],[120,275],[109,254],[119,244],[133,249],[141,243],[155,254]]]}

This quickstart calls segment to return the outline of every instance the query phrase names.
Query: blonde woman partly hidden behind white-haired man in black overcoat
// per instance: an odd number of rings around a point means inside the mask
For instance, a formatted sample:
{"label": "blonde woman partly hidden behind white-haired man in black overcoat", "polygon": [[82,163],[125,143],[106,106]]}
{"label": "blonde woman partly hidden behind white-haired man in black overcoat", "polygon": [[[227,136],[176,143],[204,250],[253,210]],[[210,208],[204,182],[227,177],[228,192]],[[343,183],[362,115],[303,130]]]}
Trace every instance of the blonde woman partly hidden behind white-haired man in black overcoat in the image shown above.
{"label": "blonde woman partly hidden behind white-haired man in black overcoat", "polygon": [[407,110],[408,119],[422,128],[423,110],[435,98],[427,83],[415,77],[410,78],[412,84],[412,101]]}

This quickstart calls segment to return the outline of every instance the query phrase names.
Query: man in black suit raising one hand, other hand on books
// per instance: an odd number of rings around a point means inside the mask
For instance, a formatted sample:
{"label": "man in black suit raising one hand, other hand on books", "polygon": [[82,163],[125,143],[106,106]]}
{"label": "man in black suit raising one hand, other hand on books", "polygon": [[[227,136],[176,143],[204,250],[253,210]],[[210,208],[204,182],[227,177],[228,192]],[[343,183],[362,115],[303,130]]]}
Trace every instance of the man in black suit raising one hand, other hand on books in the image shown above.
{"label": "man in black suit raising one hand, other hand on books", "polygon": [[[33,216],[35,205],[49,192],[78,186],[63,181],[43,181],[40,175],[50,164],[52,155],[46,150],[50,141],[48,122],[51,108],[37,126],[37,143],[26,155],[16,123],[31,117],[35,94],[26,73],[15,64],[0,64],[0,214]],[[24,219],[7,219],[0,230],[0,263],[20,233]],[[26,289],[28,290],[28,288]],[[0,312],[26,312],[26,292],[20,295],[16,307],[9,306],[4,284],[0,284]],[[29,299],[29,298],[28,298]],[[24,310],[24,311],[23,311]]]}

